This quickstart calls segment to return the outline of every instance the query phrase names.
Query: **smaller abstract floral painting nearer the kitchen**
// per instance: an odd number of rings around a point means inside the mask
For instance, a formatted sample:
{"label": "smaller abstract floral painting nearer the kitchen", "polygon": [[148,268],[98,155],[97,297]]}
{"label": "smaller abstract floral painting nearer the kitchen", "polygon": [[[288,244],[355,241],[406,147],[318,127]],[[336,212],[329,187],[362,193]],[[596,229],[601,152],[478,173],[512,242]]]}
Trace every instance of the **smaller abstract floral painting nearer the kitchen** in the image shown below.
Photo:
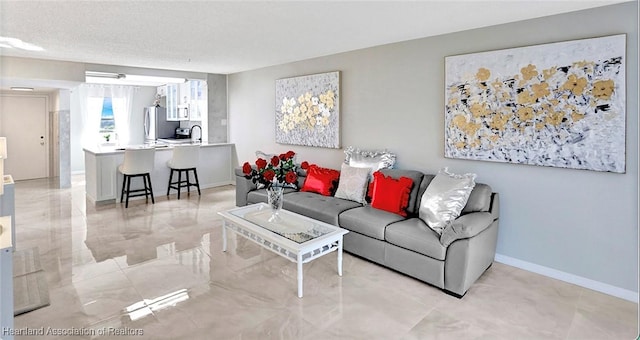
{"label": "smaller abstract floral painting nearer the kitchen", "polygon": [[276,143],[340,147],[340,72],[276,80]]}

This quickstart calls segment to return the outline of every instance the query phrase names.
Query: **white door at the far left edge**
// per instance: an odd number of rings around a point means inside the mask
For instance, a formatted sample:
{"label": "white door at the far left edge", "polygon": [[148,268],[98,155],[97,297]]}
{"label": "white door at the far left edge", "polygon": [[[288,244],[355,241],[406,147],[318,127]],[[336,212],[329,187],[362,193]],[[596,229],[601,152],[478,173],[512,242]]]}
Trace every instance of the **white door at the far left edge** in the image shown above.
{"label": "white door at the far left edge", "polygon": [[4,173],[14,180],[49,177],[47,98],[0,96],[0,136],[7,137]]}

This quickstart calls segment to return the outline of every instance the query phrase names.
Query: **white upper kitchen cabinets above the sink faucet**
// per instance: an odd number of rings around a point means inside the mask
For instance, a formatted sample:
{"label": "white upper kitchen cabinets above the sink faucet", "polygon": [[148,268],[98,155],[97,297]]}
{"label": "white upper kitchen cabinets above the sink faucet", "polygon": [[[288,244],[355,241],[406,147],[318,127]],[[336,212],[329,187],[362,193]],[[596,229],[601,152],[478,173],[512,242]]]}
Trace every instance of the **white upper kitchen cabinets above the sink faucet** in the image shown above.
{"label": "white upper kitchen cabinets above the sink faucet", "polygon": [[207,82],[188,80],[158,88],[166,96],[167,120],[201,121],[207,114]]}

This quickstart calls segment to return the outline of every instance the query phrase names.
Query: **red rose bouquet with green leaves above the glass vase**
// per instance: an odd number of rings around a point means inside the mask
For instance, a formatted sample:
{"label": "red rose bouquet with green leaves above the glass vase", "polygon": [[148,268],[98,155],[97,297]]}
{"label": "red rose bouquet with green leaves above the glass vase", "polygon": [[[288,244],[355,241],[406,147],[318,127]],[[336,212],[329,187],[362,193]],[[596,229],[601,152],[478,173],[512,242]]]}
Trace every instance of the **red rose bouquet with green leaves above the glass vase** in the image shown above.
{"label": "red rose bouquet with green leaves above the glass vase", "polygon": [[[253,167],[249,162],[242,165],[242,172],[247,179],[253,183],[260,183],[265,188],[272,186],[283,187],[285,185],[296,185],[298,181],[298,165],[295,164],[293,151],[273,156],[270,160],[258,158]],[[301,168],[306,169],[307,162],[302,162]]]}

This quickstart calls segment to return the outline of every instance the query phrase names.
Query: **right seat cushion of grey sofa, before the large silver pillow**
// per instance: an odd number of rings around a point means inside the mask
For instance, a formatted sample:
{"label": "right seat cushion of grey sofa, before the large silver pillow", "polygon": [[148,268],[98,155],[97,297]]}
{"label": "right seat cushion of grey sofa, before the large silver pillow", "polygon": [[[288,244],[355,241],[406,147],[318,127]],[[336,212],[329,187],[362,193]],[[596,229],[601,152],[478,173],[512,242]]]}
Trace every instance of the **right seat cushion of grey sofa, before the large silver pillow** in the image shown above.
{"label": "right seat cushion of grey sofa, before the large silver pillow", "polygon": [[447,248],[440,243],[440,235],[419,218],[390,224],[385,231],[385,239],[398,247],[437,260],[444,261],[447,254]]}

